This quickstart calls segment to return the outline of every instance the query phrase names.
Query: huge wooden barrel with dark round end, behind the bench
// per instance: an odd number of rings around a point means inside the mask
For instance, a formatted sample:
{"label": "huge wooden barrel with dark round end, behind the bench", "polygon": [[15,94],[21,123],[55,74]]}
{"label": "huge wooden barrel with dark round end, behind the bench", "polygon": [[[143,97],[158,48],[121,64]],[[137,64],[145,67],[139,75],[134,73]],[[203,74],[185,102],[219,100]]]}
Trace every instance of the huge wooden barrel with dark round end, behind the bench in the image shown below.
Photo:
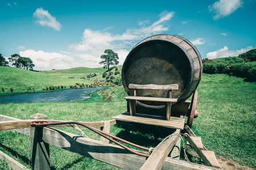
{"label": "huge wooden barrel with dark round end, behind the bench", "polygon": [[[128,95],[129,84],[178,84],[172,92],[178,102],[185,101],[199,85],[203,71],[196,47],[177,35],[155,35],[142,40],[130,51],[123,63],[122,82]],[[168,97],[163,90],[138,90],[138,96]],[[163,103],[137,102],[148,108],[163,108]]]}

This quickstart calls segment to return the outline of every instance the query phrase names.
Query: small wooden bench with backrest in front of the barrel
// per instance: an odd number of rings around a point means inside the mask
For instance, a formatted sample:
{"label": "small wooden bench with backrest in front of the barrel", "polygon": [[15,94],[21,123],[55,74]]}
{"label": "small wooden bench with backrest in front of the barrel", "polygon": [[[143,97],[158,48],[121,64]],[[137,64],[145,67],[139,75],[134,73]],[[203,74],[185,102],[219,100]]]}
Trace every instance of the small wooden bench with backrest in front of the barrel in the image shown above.
{"label": "small wooden bench with backrest in front of the barrel", "polygon": [[[137,100],[142,101],[161,101],[166,102],[166,119],[169,121],[171,117],[171,105],[172,102],[177,102],[177,99],[172,98],[172,90],[178,90],[178,84],[167,84],[167,85],[156,85],[156,84],[129,84],[130,89],[134,89],[133,96],[127,96],[125,99],[129,104],[130,116],[136,113]],[[137,90],[168,90],[169,98],[167,97],[147,97],[147,96],[137,96]]]}

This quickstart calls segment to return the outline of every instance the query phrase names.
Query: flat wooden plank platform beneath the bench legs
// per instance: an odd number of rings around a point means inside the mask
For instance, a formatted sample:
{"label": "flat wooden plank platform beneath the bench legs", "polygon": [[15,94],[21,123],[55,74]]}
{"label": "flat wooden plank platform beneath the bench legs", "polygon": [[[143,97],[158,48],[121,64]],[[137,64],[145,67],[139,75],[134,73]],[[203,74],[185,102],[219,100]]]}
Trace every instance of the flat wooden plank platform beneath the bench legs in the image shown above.
{"label": "flat wooden plank platform beneath the bench legs", "polygon": [[136,122],[136,123],[147,124],[147,125],[164,126],[167,128],[175,128],[175,129],[183,129],[184,123],[185,123],[185,119],[180,118],[180,117],[170,117],[170,121],[167,121],[167,120],[157,120],[154,118],[127,116],[125,114],[119,114],[112,118],[115,120],[120,120],[120,121]]}

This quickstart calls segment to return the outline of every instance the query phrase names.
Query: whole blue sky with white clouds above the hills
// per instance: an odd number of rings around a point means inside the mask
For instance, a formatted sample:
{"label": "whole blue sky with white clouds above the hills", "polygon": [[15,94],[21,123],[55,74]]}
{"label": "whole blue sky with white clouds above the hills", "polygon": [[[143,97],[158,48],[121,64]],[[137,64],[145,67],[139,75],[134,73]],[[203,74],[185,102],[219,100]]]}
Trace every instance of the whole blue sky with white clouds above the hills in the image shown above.
{"label": "whole blue sky with white clouds above the hills", "polygon": [[120,65],[148,36],[179,35],[201,57],[256,48],[256,1],[0,1],[0,53],[30,57],[35,70],[101,67],[105,49]]}

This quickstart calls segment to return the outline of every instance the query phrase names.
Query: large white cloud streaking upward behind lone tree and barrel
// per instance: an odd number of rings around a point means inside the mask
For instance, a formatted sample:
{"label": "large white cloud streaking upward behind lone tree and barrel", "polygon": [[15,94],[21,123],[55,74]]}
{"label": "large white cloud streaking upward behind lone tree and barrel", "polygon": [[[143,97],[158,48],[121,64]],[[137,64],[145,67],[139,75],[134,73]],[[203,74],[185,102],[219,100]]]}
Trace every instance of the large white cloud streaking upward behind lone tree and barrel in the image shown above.
{"label": "large white cloud streaking upward behind lone tree and barrel", "polygon": [[126,29],[121,35],[86,28],[81,42],[69,45],[68,49],[75,56],[86,60],[84,62],[86,67],[101,67],[98,63],[101,61],[100,56],[104,54],[105,49],[112,49],[118,53],[119,65],[122,65],[133,45],[148,36],[167,31],[170,27],[166,26],[166,23],[173,16],[174,12],[164,11],[159,15],[159,20],[151,25],[144,25],[149,22],[147,20],[141,27]]}

